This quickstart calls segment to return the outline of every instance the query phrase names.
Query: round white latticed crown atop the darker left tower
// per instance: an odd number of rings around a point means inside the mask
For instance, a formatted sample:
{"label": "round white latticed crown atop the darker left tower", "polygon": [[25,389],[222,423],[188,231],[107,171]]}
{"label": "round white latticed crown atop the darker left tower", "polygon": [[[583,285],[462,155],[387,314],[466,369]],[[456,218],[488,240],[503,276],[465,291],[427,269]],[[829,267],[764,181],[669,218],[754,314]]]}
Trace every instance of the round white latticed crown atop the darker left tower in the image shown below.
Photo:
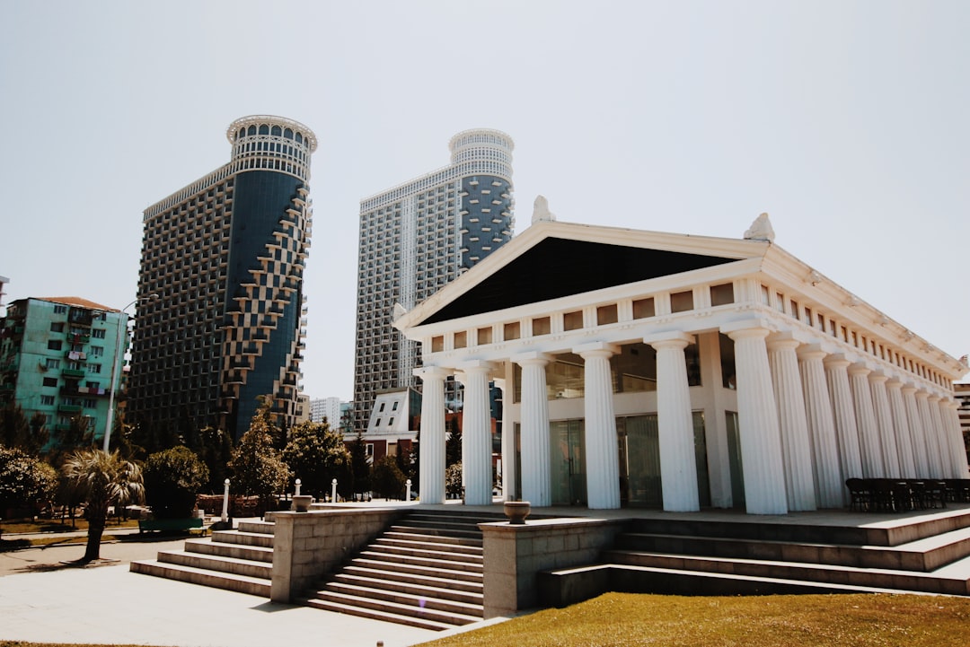
{"label": "round white latticed crown atop the darker left tower", "polygon": [[226,130],[233,162],[246,169],[280,170],[309,179],[309,156],[316,136],[299,121],[269,114],[237,119]]}

